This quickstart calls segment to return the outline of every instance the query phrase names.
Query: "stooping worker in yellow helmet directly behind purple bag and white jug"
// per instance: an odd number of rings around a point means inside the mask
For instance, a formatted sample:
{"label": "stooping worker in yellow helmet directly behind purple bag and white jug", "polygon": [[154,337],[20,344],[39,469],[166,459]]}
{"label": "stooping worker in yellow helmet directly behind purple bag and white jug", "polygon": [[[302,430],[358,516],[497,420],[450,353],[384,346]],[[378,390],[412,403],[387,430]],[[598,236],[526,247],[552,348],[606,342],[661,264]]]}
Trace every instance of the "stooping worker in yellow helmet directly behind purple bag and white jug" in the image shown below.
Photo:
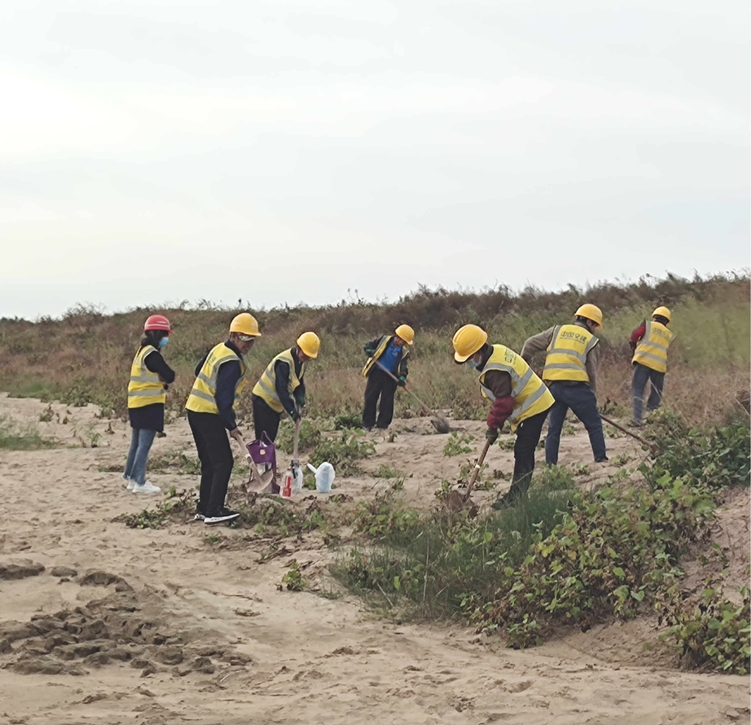
{"label": "stooping worker in yellow helmet directly behind purple bag and white jug", "polygon": [[264,433],[276,440],[283,412],[293,421],[300,418],[300,408],[305,406],[305,366],[318,357],[319,349],[318,335],[303,332],[294,347],[282,350],[268,364],[252,393],[253,423],[258,440]]}

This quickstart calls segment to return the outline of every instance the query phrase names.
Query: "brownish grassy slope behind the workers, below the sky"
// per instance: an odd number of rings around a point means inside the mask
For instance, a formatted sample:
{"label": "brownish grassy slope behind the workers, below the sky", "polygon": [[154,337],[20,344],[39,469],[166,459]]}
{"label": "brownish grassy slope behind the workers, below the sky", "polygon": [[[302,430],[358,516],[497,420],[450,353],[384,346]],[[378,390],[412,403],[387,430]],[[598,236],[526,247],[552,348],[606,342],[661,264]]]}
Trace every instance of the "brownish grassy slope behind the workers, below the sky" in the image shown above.
{"label": "brownish grassy slope behind the workers, below the sky", "polygon": [[[307,377],[310,412],[356,412],[363,380],[362,346],[367,340],[409,322],[418,331],[410,383],[415,392],[456,417],[480,418],[484,406],[474,376],[451,360],[451,335],[466,322],[478,322],[493,341],[520,349],[529,334],[566,322],[582,301],[605,312],[602,331],[605,361],[599,397],[621,406],[629,402],[628,335],[656,304],[669,304],[678,335],[671,348],[666,395],[691,418],[717,420],[731,408],[737,391],[749,387],[751,311],[748,276],[692,281],[668,277],[648,285],[600,285],[586,295],[575,288],[559,294],[504,289],[469,294],[421,290],[391,305],[341,304],[253,311],[263,337],[249,355],[249,377],[255,380],[267,361],[291,346],[297,334],[313,329],[322,349]],[[228,321],[238,310],[133,310],[102,315],[72,310],[62,319],[0,320],[0,389],[11,394],[88,401],[125,412],[125,386],[140,325],[147,314],[163,312],[174,334],[166,357],[178,373],[168,403],[178,412],[193,379],[195,362],[225,337]],[[246,411],[249,412],[246,397]],[[625,407],[623,411],[625,412]],[[400,395],[397,415],[415,415],[412,399]]]}

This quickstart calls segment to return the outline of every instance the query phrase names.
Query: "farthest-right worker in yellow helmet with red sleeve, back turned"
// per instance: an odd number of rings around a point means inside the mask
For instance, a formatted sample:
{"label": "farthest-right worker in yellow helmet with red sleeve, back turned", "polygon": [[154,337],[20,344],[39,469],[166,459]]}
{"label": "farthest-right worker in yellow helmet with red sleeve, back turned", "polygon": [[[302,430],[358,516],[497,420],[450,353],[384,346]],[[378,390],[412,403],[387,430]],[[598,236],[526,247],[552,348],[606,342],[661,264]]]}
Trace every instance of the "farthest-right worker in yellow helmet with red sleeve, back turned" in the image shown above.
{"label": "farthest-right worker in yellow helmet with red sleeve, back turned", "polygon": [[668,370],[668,347],[675,335],[668,330],[671,319],[667,307],[657,307],[652,313],[651,322],[646,320],[631,334],[629,344],[633,352],[634,377],[631,382],[631,397],[634,418],[630,425],[641,425],[641,406],[644,402],[644,388],[651,382],[647,410],[656,410],[662,401],[662,387]]}

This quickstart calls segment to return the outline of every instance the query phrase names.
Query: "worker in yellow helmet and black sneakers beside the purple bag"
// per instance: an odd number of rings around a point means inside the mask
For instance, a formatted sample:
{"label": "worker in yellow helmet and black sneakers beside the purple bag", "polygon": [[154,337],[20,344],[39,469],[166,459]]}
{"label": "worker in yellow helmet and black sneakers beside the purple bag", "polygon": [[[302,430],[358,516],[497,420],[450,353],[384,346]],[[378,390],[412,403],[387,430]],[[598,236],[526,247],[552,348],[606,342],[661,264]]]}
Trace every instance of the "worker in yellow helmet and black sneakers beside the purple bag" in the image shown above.
{"label": "worker in yellow helmet and black sneakers beside the purple bag", "polygon": [[229,339],[213,347],[195,367],[196,378],[185,408],[201,460],[196,521],[219,524],[240,515],[225,508],[234,466],[227,433],[247,453],[234,406],[246,385],[243,355],[250,352],[256,337],[261,337],[261,333],[255,317],[240,313],[230,323]]}

